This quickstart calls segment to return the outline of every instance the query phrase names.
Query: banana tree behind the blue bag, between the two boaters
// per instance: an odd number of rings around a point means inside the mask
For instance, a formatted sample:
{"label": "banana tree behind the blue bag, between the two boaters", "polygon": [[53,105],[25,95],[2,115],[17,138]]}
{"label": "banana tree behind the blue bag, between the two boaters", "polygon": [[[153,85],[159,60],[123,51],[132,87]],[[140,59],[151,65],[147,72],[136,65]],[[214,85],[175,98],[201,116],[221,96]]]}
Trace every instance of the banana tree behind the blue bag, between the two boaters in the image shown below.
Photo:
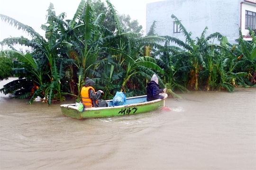
{"label": "banana tree behind the blue bag, between the two boaters", "polygon": [[163,42],[164,38],[157,36],[140,37],[137,33],[125,32],[115,8],[108,0],[106,2],[115,20],[116,31],[114,35],[108,36],[104,40],[109,42],[108,52],[119,65],[119,67],[114,68],[115,72],[122,74],[120,91],[136,90],[138,86],[143,89],[146,78],[150,79],[155,72],[163,74],[163,70],[157,65],[156,60],[145,55],[145,47],[149,43]]}

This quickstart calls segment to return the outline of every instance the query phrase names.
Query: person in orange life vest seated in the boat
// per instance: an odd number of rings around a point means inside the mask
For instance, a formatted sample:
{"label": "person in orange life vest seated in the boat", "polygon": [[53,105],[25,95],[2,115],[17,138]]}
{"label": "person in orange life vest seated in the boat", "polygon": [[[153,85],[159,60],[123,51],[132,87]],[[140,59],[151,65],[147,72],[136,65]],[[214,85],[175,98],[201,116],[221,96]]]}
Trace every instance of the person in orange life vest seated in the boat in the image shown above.
{"label": "person in orange life vest seated in the boat", "polygon": [[104,92],[102,90],[95,92],[93,85],[94,81],[86,77],[84,80],[84,86],[81,90],[82,103],[85,108],[100,107],[99,99]]}

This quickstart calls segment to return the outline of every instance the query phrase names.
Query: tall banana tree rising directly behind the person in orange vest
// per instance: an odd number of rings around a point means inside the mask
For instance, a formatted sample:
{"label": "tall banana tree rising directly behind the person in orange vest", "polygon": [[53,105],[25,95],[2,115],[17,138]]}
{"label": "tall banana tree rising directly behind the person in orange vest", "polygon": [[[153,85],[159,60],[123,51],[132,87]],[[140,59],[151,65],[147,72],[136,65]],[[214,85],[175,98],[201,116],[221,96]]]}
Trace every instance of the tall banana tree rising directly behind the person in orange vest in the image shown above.
{"label": "tall banana tree rising directly behind the person in orange vest", "polygon": [[[80,90],[86,76],[94,76],[99,63],[98,57],[102,52],[102,37],[106,29],[101,27],[104,15],[95,16],[91,8],[91,1],[81,0],[74,17],[68,22],[68,29],[63,32],[66,56],[74,59],[74,63],[67,66],[72,80],[77,85],[77,97],[80,100]],[[109,33],[109,32],[108,32]],[[76,79],[75,77],[78,77]],[[73,87],[71,87],[73,89]]]}

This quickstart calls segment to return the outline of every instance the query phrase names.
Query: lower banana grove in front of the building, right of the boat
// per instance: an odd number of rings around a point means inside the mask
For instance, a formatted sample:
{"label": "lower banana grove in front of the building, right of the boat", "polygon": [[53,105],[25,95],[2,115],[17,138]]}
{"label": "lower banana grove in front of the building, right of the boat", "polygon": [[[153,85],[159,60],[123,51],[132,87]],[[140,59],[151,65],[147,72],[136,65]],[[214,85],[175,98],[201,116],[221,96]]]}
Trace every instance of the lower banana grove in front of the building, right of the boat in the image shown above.
{"label": "lower banana grove in front of the building, right of the boat", "polygon": [[[194,90],[223,90],[229,92],[234,86],[247,86],[245,78],[253,75],[256,64],[255,36],[252,42],[246,42],[240,33],[237,48],[229,44],[227,38],[219,33],[206,35],[207,27],[200,37],[192,39],[180,20],[172,15],[185,37],[185,42],[170,36],[165,38],[165,45],[157,46],[153,56],[160,56],[158,65],[165,70],[163,76],[169,88]],[[150,34],[155,34],[155,22]],[[214,41],[219,42],[213,43]],[[175,43],[176,46],[170,45]],[[239,54],[239,55],[238,55]],[[238,59],[238,56],[239,59]],[[247,56],[241,58],[241,56]],[[240,59],[241,58],[241,59]],[[248,72],[248,69],[250,72]],[[252,77],[252,76],[251,76]]]}

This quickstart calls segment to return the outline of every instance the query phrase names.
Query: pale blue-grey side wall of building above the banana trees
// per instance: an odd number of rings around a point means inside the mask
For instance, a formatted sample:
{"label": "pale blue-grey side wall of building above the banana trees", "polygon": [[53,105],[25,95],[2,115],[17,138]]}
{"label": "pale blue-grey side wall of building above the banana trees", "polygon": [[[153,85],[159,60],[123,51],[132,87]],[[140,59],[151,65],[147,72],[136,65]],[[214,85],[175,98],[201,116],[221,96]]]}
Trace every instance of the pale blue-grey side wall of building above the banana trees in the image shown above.
{"label": "pale blue-grey side wall of building above the banana trees", "polygon": [[146,5],[146,33],[156,21],[155,32],[184,40],[182,33],[173,33],[174,14],[192,32],[200,37],[204,28],[206,36],[219,32],[234,43],[239,35],[241,0],[164,0]]}

